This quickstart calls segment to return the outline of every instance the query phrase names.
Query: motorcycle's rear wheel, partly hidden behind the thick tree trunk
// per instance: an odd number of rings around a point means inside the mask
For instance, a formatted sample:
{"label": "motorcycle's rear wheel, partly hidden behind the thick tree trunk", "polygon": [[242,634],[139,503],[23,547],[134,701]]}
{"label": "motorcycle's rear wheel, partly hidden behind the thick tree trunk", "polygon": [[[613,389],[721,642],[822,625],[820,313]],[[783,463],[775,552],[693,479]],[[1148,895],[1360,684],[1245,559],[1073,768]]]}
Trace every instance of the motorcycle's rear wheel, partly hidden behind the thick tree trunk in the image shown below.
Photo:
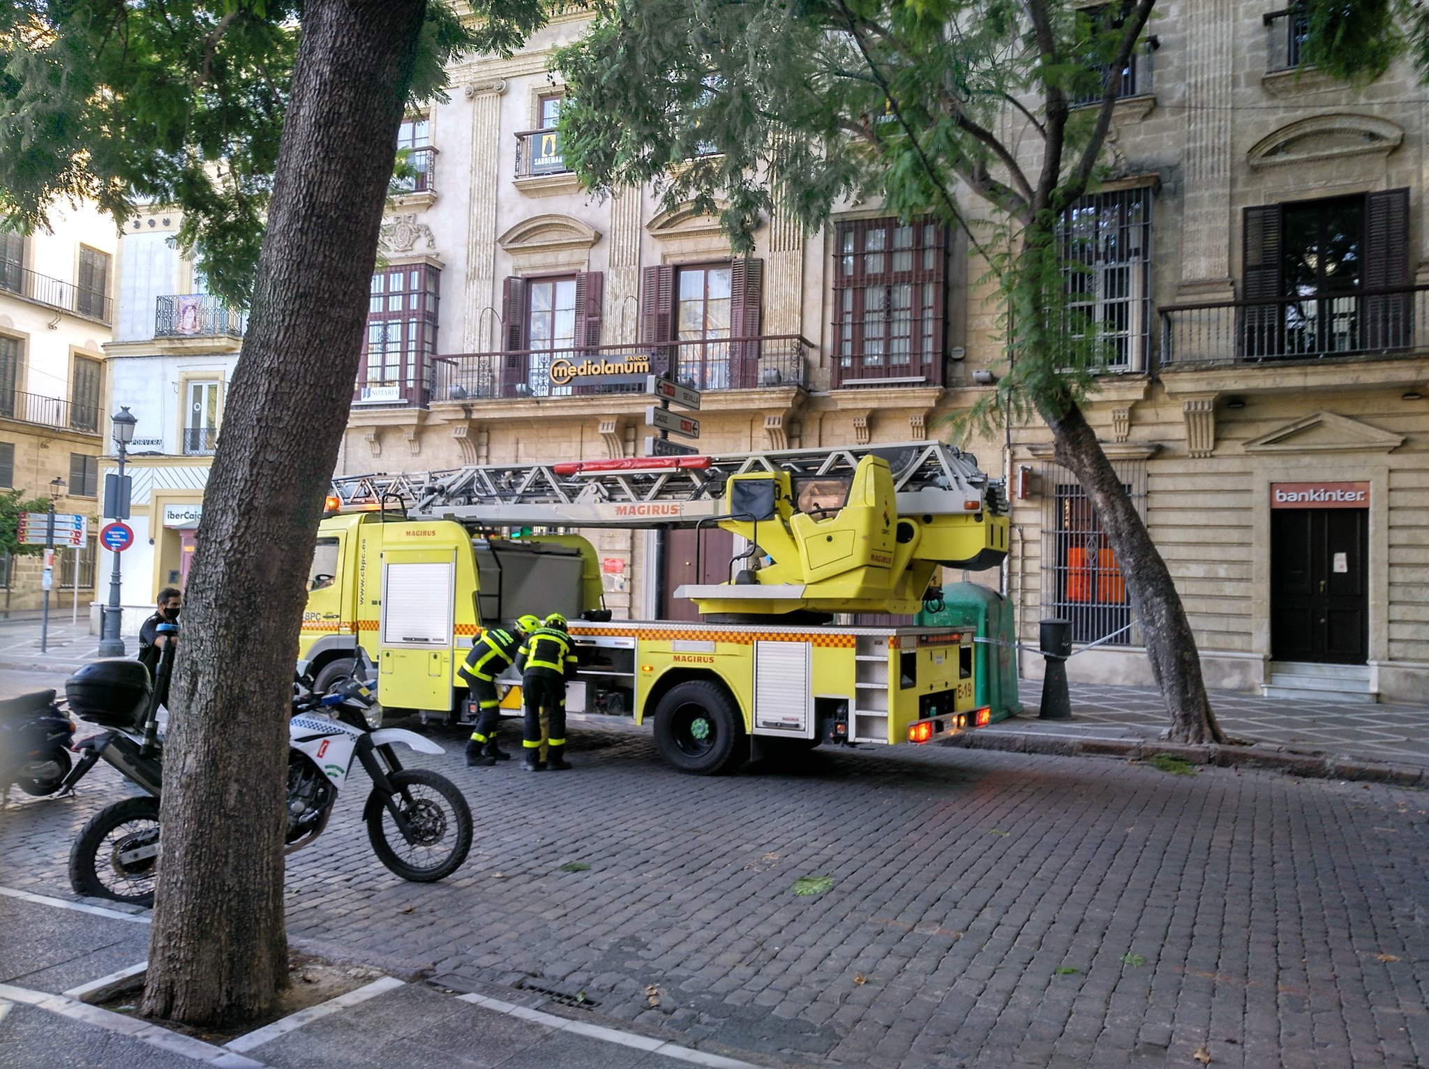
{"label": "motorcycle's rear wheel, partly hidden behind the thick tree trunk", "polygon": [[159,872],[159,799],[141,795],[104,806],[70,849],[76,895],[154,905]]}

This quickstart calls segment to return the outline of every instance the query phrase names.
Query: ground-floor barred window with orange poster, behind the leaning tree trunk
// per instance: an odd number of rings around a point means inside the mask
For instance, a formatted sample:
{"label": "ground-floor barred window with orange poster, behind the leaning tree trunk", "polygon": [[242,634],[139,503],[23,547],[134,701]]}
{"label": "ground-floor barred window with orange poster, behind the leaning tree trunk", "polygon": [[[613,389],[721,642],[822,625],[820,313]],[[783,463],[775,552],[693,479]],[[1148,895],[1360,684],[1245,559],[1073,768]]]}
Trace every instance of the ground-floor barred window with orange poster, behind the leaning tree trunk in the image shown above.
{"label": "ground-floor barred window with orange poster, behind the leaning tree trunk", "polygon": [[[1146,462],[1113,460],[1112,467],[1146,519]],[[1107,646],[1140,646],[1126,579],[1086,490],[1067,469],[1042,467],[1042,610],[1072,622],[1072,642],[1105,639]],[[1119,632],[1119,633],[1117,633]]]}

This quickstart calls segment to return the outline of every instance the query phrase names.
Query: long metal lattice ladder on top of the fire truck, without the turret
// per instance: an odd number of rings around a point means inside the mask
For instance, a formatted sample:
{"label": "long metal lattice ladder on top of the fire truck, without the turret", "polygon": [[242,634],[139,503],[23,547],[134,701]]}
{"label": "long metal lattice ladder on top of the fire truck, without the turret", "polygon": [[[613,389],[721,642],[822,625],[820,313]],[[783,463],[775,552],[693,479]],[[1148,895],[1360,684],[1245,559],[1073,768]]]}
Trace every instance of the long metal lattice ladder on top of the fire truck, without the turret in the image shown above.
{"label": "long metal lattice ladder on top of the fire truck, without the turret", "polygon": [[787,472],[793,480],[850,477],[876,454],[893,474],[899,514],[1002,516],[1002,480],[940,442],[790,449],[720,456],[623,457],[556,464],[470,464],[443,472],[343,476],[342,504],[400,502],[410,519],[493,527],[682,527],[723,512],[730,476]]}

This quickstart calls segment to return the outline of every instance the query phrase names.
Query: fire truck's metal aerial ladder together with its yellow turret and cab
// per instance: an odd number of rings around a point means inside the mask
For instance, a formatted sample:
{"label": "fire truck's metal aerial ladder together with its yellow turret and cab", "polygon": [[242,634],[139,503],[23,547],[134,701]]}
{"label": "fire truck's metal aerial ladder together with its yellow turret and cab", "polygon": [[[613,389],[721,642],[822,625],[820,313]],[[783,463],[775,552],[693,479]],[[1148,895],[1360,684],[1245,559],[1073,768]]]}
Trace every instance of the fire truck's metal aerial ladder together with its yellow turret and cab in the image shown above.
{"label": "fire truck's metal aerial ladder together with its yellow turret and cab", "polygon": [[1000,482],[939,442],[473,464],[356,476],[334,490],[349,502],[396,497],[409,519],[483,530],[717,524],[746,546],[730,582],[676,595],[729,622],[916,612],[937,566],[986,569],[1007,555]]}

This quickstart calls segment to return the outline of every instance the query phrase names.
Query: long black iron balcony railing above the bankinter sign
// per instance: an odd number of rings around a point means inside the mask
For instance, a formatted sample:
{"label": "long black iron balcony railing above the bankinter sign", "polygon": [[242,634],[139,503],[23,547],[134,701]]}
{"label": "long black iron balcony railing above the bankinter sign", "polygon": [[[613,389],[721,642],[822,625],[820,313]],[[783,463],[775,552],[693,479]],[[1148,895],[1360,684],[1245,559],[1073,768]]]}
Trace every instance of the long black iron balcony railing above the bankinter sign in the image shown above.
{"label": "long black iron balcony railing above the bankinter sign", "polygon": [[1172,304],[1157,312],[1160,362],[1167,370],[1406,356],[1415,339],[1429,337],[1429,286]]}

